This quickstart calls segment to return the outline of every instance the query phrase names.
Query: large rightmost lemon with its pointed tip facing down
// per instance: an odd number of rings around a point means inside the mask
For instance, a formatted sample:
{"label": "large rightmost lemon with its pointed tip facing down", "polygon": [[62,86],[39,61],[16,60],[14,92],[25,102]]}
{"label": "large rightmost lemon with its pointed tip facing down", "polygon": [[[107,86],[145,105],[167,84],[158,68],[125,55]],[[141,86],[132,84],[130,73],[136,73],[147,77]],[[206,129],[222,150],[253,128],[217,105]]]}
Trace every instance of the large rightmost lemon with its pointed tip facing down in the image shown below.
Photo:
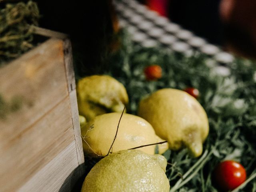
{"label": "large rightmost lemon with its pointed tip facing down", "polygon": [[172,150],[188,147],[191,154],[202,154],[209,123],[200,103],[188,93],[166,88],[141,100],[138,115],[146,119],[156,134],[167,140]]}

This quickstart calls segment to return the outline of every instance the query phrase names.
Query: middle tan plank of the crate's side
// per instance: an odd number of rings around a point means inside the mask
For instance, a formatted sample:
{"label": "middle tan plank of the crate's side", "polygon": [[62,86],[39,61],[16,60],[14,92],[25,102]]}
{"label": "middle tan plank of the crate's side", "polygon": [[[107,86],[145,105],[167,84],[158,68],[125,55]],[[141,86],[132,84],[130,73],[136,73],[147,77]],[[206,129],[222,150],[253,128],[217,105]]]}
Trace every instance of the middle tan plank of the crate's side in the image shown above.
{"label": "middle tan plank of the crate's side", "polygon": [[[66,97],[26,132],[12,140],[8,144],[8,150],[0,151],[1,191],[17,190],[74,141],[70,117],[70,99]],[[76,155],[75,157],[77,158]],[[60,160],[57,161],[61,163]],[[77,166],[76,160],[73,168]],[[52,174],[52,170],[48,170],[48,174]]]}

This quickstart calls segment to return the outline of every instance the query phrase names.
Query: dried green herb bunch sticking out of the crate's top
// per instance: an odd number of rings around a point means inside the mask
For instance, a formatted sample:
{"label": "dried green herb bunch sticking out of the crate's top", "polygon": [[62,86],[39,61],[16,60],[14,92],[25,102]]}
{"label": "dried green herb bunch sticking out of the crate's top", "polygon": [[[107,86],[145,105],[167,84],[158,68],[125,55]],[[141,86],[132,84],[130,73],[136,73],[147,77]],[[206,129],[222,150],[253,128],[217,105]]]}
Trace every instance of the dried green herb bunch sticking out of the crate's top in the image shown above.
{"label": "dried green herb bunch sticking out of the crate's top", "polygon": [[31,25],[38,25],[39,10],[35,2],[6,4],[0,10],[0,66],[33,47]]}

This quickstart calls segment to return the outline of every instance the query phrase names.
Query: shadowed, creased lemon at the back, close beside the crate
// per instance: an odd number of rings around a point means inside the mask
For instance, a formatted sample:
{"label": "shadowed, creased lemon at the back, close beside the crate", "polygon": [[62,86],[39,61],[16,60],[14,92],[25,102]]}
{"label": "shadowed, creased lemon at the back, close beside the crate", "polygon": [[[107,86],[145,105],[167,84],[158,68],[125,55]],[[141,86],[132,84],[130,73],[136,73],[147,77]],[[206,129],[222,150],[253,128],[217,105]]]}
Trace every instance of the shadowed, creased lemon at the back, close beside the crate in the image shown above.
{"label": "shadowed, creased lemon at the back, close beside the crate", "polygon": [[128,104],[128,95],[123,84],[108,75],[80,79],[76,92],[79,114],[86,120],[107,112],[122,112]]}

